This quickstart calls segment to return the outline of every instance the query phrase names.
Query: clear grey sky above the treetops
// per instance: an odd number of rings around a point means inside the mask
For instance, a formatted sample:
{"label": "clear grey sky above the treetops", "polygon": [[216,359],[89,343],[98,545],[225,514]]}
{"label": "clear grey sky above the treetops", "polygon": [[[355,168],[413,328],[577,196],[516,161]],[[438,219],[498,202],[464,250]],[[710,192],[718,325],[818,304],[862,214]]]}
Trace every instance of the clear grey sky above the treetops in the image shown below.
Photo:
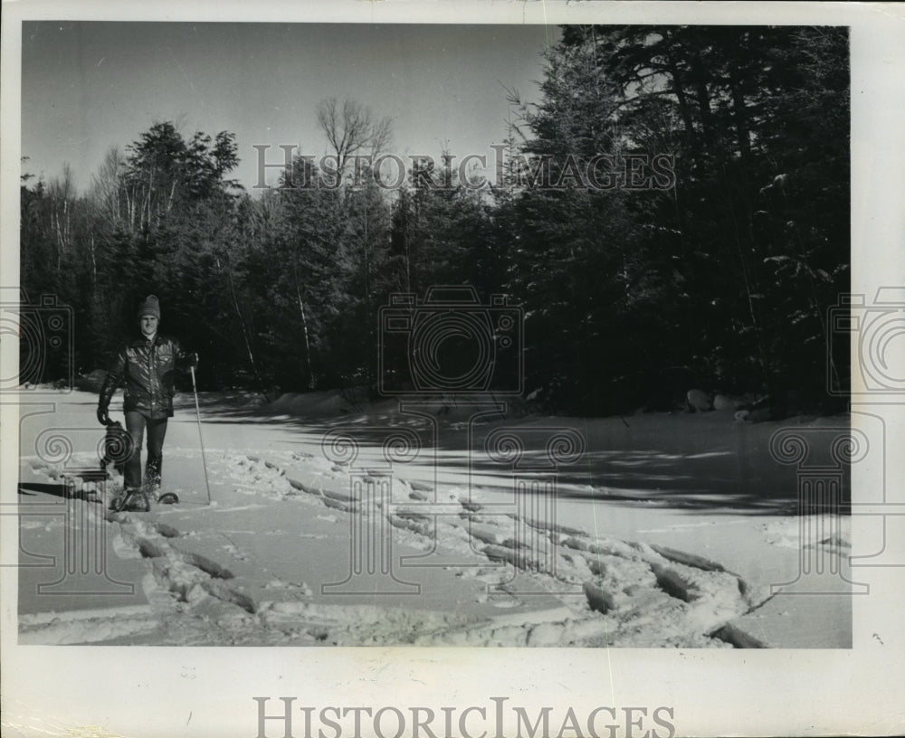
{"label": "clear grey sky above the treetops", "polygon": [[[544,25],[23,24],[24,171],[45,180],[69,163],[84,191],[111,146],[124,149],[155,122],[236,134],[233,175],[252,190],[258,153],[281,145],[327,151],[320,100],[354,99],[393,120],[396,156],[457,160],[506,134],[507,89],[538,99]],[[408,159],[405,158],[406,164]],[[270,168],[266,179],[276,182]]]}

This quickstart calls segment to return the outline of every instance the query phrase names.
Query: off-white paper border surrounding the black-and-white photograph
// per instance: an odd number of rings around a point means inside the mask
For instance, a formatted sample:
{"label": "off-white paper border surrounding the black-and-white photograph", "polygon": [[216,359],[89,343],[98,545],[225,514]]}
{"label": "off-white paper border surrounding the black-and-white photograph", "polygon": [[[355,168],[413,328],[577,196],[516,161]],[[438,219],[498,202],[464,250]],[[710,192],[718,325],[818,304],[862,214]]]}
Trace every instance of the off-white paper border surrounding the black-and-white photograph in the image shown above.
{"label": "off-white paper border surrounding the black-and-white photograph", "polygon": [[[5,2],[2,30],[0,217],[4,285],[18,281],[20,75],[23,20],[157,20],[475,24],[847,25],[852,51],[852,291],[905,279],[905,4],[716,2]],[[2,345],[4,370],[17,347]],[[8,374],[4,374],[5,376]],[[4,404],[2,496],[14,500],[17,408]],[[902,428],[888,448],[905,448]],[[855,499],[860,473],[853,472]],[[887,479],[888,488],[901,480]],[[0,516],[5,561],[17,527]],[[865,527],[853,518],[853,539]],[[888,541],[905,560],[905,542]],[[19,646],[14,570],[3,571],[3,724],[14,735],[218,736],[258,733],[255,696],[296,705],[551,705],[587,714],[672,708],[676,735],[894,734],[902,725],[905,570],[861,569],[871,594],[854,598],[853,648],[494,649],[143,648]],[[299,714],[299,713],[297,713]],[[647,729],[646,727],[644,728]],[[92,732],[93,731],[93,732]],[[279,735],[278,724],[268,734]],[[71,733],[70,733],[71,732]],[[303,734],[299,725],[296,734]],[[317,734],[317,733],[315,733]],[[329,733],[327,733],[329,735]],[[389,733],[392,734],[392,733]],[[480,734],[480,733],[478,733]],[[566,733],[572,735],[574,733]],[[643,731],[635,733],[642,735]],[[665,738],[666,731],[658,730]],[[491,735],[491,733],[488,733]]]}

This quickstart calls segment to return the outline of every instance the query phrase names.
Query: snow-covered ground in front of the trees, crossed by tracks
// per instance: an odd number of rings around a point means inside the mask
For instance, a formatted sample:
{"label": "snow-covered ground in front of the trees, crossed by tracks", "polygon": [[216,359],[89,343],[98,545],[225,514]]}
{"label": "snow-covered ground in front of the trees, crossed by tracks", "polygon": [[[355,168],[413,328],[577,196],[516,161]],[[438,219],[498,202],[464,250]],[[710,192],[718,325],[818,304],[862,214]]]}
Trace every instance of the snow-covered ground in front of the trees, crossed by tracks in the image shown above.
{"label": "snow-covered ground in front of the trees, crossed by tracks", "polygon": [[[846,417],[205,394],[205,482],[189,396],[165,446],[181,503],[109,513],[92,500],[121,479],[79,477],[96,396],[48,399],[20,423],[22,643],[851,645],[848,519],[798,516],[796,469],[769,449]],[[790,593],[805,582],[820,593]]]}

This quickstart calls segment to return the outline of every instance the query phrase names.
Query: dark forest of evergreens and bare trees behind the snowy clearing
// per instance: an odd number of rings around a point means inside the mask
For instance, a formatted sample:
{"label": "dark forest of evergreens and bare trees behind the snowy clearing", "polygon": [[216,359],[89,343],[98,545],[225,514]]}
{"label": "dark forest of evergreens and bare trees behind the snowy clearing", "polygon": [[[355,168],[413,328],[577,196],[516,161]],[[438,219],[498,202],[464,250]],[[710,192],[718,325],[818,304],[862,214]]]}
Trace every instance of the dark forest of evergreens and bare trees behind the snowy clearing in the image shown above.
{"label": "dark forest of evergreens and bare trees behind the snowy clearing", "polygon": [[[432,285],[521,307],[526,393],[554,412],[667,409],[692,386],[816,406],[827,372],[845,381],[826,315],[849,289],[846,29],[566,26],[539,91],[509,90],[481,188],[442,156],[384,186],[368,167],[392,124],[353,100],[314,111],[330,172],[298,151],[255,196],[232,133],[155,123],[84,193],[68,167],[23,175],[22,286],[71,306],[80,372],[157,294],[209,388],[374,388],[379,308]],[[576,175],[633,156],[662,156],[668,185]]]}

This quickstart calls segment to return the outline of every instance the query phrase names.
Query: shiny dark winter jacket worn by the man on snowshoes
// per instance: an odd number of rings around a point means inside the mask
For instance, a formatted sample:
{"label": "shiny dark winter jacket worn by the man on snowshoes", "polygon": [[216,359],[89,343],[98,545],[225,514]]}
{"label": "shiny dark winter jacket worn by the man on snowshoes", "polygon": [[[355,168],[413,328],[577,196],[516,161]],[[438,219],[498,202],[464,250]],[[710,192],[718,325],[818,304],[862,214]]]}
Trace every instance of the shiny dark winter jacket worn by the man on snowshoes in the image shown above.
{"label": "shiny dark winter jacket worn by the man on snowshoes", "polygon": [[190,363],[191,355],[169,336],[157,334],[153,342],[145,336],[129,341],[119,349],[100,388],[100,406],[108,407],[117,387],[125,385],[124,412],[138,411],[152,419],[171,417],[174,374]]}

